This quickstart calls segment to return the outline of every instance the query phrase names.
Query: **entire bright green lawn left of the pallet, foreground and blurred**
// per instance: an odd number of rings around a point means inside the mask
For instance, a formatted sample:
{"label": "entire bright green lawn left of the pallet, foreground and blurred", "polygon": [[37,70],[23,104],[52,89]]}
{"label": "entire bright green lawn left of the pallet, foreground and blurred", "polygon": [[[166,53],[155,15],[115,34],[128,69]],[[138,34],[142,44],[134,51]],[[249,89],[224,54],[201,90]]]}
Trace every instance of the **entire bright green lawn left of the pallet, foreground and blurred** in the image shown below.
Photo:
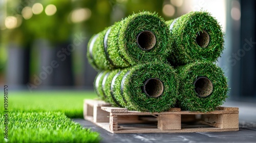
{"label": "entire bright green lawn left of the pallet, foreground and blurred", "polygon": [[[99,142],[98,133],[70,119],[82,117],[83,100],[94,98],[97,96],[92,91],[9,91],[8,142]],[[2,130],[3,107],[0,114]],[[0,142],[7,141],[4,132]]]}

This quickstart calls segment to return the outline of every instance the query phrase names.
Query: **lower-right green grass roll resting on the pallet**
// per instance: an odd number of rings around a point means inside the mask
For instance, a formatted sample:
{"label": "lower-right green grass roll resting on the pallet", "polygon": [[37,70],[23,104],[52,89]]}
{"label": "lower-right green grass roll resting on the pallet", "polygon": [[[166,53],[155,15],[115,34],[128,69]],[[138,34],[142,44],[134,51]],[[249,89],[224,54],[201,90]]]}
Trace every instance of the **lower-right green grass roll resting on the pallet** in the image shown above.
{"label": "lower-right green grass roll resting on the pallet", "polygon": [[227,79],[212,62],[194,62],[178,67],[178,103],[183,110],[213,111],[227,98]]}

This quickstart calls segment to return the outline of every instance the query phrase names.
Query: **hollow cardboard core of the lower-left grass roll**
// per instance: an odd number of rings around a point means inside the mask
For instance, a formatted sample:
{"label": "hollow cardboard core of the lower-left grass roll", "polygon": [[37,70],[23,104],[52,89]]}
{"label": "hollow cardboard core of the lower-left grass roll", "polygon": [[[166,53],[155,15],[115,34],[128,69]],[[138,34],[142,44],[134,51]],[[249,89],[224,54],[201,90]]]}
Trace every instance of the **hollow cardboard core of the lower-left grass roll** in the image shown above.
{"label": "hollow cardboard core of the lower-left grass roll", "polygon": [[147,96],[157,98],[163,93],[163,83],[161,80],[156,78],[148,79],[144,84],[144,92]]}

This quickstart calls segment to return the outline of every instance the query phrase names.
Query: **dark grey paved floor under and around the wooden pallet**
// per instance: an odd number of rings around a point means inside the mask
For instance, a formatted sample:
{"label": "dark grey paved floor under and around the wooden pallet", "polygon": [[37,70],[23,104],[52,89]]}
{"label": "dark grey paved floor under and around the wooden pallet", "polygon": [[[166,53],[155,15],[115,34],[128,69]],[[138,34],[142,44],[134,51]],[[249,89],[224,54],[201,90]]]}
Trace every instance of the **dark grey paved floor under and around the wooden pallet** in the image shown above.
{"label": "dark grey paved floor under and around the wooden pallet", "polygon": [[74,122],[99,132],[101,142],[256,142],[256,105],[228,101],[223,106],[239,107],[239,131],[112,134],[83,119],[76,118]]}

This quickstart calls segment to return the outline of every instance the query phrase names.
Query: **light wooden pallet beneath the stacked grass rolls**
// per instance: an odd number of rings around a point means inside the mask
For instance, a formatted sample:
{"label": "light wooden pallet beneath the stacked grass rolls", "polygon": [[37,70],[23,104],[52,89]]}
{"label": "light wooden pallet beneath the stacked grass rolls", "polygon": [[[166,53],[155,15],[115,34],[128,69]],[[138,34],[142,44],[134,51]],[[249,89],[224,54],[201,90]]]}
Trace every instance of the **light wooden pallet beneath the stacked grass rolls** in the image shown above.
{"label": "light wooden pallet beneath the stacked grass rolls", "polygon": [[223,132],[239,130],[239,109],[218,107],[210,112],[138,112],[111,107],[109,103],[84,100],[84,119],[111,133]]}

